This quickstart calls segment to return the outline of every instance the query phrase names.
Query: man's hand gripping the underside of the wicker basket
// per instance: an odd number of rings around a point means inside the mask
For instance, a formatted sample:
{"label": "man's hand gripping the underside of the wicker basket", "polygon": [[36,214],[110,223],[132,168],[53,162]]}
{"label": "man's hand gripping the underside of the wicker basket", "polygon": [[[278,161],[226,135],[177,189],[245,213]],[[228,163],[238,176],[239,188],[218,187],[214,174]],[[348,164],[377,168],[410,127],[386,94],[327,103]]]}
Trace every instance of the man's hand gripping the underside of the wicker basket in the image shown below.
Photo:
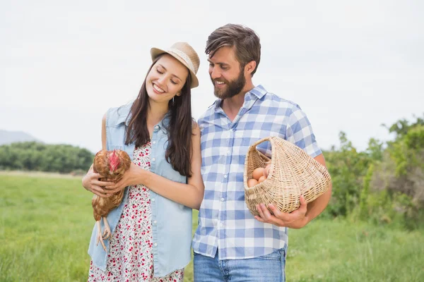
{"label": "man's hand gripping the underside of the wicker basket", "polygon": [[264,223],[271,223],[275,226],[284,226],[288,228],[302,228],[309,220],[307,218],[307,202],[303,196],[300,196],[300,207],[299,209],[290,212],[290,214],[280,212],[273,204],[268,205],[269,210],[265,207],[265,204],[257,204],[257,211],[259,216],[254,216],[255,219]]}

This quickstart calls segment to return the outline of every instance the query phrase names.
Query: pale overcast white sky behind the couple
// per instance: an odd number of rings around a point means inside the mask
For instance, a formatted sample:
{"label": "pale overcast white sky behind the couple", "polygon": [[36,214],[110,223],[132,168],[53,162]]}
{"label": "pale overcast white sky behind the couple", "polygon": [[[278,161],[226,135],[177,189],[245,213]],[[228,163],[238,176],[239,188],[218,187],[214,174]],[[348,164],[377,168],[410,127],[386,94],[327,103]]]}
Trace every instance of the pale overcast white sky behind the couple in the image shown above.
{"label": "pale overcast white sky behind the couple", "polygon": [[[189,42],[194,118],[216,99],[206,39],[226,23],[261,38],[254,85],[300,105],[322,149],[360,150],[424,114],[423,1],[0,1],[0,129],[101,149],[108,108],[131,102],[150,49]],[[421,50],[421,51],[420,51]]]}

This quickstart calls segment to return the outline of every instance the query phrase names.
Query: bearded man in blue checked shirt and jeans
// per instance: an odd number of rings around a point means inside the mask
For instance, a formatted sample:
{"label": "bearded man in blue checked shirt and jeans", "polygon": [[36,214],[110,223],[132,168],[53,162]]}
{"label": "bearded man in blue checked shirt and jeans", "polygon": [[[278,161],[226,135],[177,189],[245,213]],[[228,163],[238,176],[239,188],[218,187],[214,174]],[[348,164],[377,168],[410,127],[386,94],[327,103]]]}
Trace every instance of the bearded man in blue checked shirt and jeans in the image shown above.
{"label": "bearded man in blue checked shirt and jeans", "polygon": [[208,37],[209,75],[218,99],[199,118],[205,192],[193,239],[197,282],[285,281],[288,228],[309,223],[331,195],[329,189],[309,204],[300,197],[300,208],[290,214],[269,205],[271,214],[261,204],[254,217],[247,209],[245,156],[257,140],[283,137],[325,165],[300,107],[253,85],[260,53],[258,35],[242,25],[219,27]]}

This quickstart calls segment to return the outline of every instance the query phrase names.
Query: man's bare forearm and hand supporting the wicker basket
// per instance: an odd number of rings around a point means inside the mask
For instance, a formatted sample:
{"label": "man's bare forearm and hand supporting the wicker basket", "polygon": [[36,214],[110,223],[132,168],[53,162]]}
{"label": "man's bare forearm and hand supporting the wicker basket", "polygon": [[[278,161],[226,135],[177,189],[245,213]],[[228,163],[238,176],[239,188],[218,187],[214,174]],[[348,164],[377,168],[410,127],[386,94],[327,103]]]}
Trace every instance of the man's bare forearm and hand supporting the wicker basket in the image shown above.
{"label": "man's bare forearm and hand supporting the wicker basket", "polygon": [[[326,166],[323,154],[319,154],[317,157],[314,157],[314,159],[317,160],[319,164]],[[272,215],[264,204],[258,204],[257,211],[260,216],[255,216],[254,218],[258,221],[271,223],[276,226],[285,226],[295,229],[302,228],[324,211],[330,201],[331,187],[330,183],[329,189],[309,204],[306,204],[305,198],[301,196],[299,209],[290,212],[290,214],[280,212],[273,204],[269,204],[268,207],[273,212]]]}

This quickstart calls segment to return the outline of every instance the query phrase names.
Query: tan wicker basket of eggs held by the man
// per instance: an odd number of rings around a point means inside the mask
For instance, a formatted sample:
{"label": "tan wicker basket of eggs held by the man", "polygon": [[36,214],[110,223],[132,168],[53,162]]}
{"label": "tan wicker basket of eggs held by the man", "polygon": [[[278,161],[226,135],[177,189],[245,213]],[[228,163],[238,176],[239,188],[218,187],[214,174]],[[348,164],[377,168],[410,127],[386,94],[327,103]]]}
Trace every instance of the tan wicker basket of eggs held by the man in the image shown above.
{"label": "tan wicker basket of eggs held by the man", "polygon": [[[262,142],[271,142],[272,156],[269,175],[264,182],[249,188],[254,168],[265,167],[269,158],[257,150]],[[259,215],[257,204],[275,204],[281,212],[293,212],[300,207],[300,195],[312,202],[330,186],[329,172],[300,147],[280,137],[266,137],[249,147],[245,160],[245,201],[253,215]]]}

